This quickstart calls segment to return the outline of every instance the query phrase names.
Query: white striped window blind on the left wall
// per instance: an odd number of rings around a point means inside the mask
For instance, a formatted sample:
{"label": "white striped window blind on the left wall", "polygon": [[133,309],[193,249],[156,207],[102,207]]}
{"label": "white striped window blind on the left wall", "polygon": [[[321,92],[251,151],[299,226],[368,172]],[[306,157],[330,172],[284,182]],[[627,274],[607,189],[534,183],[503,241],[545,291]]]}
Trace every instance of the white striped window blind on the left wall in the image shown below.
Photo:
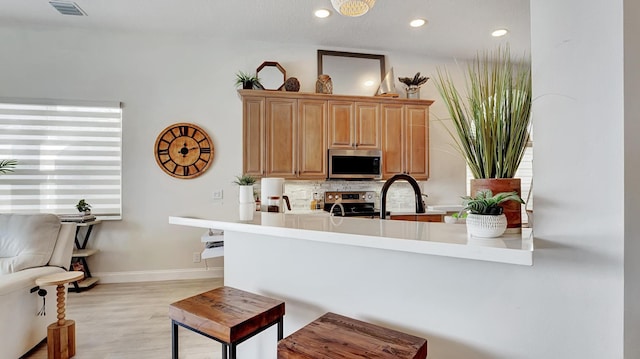
{"label": "white striped window blind on the left wall", "polygon": [[122,109],[119,103],[0,99],[0,212],[122,216]]}

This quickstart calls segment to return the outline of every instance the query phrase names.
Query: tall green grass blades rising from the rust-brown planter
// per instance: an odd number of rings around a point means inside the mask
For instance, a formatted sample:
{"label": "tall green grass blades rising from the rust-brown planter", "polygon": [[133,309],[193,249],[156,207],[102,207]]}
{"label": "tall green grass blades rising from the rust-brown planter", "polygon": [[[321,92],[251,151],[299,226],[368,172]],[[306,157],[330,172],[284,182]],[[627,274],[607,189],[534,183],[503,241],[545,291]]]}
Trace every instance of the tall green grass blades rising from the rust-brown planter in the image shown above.
{"label": "tall green grass blades rising from the rust-brown planter", "polygon": [[436,88],[453,120],[450,134],[475,178],[513,178],[529,141],[531,66],[509,47],[478,54],[467,67],[466,96],[437,69]]}

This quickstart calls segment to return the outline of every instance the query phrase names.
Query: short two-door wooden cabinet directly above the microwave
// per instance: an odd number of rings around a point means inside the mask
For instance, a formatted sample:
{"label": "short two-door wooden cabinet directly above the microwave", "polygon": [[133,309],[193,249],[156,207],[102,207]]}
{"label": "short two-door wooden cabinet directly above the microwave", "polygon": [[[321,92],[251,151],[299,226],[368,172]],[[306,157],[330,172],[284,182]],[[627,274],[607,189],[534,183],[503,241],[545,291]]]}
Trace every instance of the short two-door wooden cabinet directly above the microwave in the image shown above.
{"label": "short two-door wooden cabinet directly above the microwave", "polygon": [[380,149],[380,105],[329,101],[329,148]]}

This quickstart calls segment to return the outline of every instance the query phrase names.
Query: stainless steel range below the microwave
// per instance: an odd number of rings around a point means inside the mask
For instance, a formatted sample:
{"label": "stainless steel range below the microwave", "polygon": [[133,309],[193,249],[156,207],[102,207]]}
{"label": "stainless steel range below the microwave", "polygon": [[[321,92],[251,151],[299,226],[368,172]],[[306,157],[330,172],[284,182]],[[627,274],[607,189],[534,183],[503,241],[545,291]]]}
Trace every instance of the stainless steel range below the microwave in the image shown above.
{"label": "stainless steel range below the microwave", "polygon": [[324,210],[329,212],[333,207],[333,214],[341,216],[340,203],[344,207],[345,217],[371,217],[380,216],[380,211],[375,208],[375,192],[349,191],[349,192],[325,192]]}

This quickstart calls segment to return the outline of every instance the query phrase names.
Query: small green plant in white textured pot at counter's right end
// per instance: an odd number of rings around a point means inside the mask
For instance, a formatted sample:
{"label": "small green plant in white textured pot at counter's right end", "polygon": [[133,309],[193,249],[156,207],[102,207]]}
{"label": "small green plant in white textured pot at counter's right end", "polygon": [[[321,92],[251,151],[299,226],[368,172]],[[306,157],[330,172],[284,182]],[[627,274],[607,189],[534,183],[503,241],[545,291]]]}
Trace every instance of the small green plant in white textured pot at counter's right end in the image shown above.
{"label": "small green plant in white textured pot at counter's right end", "polygon": [[508,201],[524,203],[516,192],[501,192],[496,195],[491,190],[478,191],[475,197],[462,197],[467,211],[467,232],[473,237],[494,238],[507,229],[507,217],[502,204]]}

